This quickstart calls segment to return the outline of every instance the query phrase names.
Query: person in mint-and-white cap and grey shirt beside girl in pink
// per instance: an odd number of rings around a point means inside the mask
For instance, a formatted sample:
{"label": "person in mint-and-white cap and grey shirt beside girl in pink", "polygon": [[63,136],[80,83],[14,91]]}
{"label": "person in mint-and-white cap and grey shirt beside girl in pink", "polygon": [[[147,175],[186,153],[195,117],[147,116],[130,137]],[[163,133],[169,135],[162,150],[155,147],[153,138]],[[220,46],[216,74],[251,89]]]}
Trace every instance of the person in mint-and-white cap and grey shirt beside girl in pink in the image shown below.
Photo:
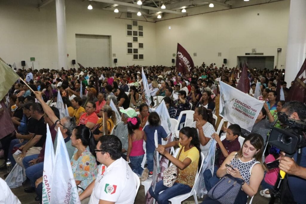
{"label": "person in mint-and-white cap and grey shirt beside girl in pink", "polygon": [[136,117],[136,112],[133,108],[127,108],[125,110],[120,109],[121,121],[114,127],[113,134],[116,135],[122,143],[122,158],[126,159],[126,153],[128,150],[128,118]]}

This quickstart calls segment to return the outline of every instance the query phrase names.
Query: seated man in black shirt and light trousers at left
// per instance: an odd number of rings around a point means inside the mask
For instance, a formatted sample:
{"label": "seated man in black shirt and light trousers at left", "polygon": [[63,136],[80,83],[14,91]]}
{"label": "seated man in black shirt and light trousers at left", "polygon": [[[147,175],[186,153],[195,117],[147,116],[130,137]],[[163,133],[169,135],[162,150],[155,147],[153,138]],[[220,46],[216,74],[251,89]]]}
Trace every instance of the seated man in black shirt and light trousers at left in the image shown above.
{"label": "seated man in black shirt and light trousers at left", "polygon": [[31,117],[35,119],[35,127],[29,128],[29,133],[34,132],[33,137],[20,147],[22,153],[20,155],[13,155],[17,164],[23,167],[22,160],[25,156],[39,154],[44,142],[46,141],[47,126],[44,121],[43,107],[39,103],[33,103],[30,106]]}

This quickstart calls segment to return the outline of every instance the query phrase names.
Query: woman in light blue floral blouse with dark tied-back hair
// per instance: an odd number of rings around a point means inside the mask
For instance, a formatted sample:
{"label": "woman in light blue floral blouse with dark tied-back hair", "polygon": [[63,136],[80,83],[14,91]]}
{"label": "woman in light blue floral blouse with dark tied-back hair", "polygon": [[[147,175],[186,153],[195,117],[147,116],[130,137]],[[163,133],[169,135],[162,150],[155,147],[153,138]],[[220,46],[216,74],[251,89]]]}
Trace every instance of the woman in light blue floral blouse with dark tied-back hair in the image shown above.
{"label": "woman in light blue floral blouse with dark tied-back hair", "polygon": [[71,134],[71,145],[76,147],[70,163],[79,192],[83,192],[95,179],[98,170],[94,137],[85,125],[77,126]]}

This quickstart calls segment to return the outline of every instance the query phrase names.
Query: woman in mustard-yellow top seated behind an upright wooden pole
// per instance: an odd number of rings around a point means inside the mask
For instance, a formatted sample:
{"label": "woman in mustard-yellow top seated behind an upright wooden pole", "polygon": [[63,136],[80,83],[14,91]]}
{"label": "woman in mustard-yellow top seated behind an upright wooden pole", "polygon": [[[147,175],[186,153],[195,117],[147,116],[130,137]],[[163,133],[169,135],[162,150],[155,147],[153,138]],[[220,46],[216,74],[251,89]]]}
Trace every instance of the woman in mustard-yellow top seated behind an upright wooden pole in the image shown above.
{"label": "woman in mustard-yellow top seated behind an upright wooden pole", "polygon": [[[103,114],[104,114],[104,118],[106,119],[106,124],[107,124],[106,133],[103,132]],[[95,140],[99,140],[99,138],[102,135],[110,134],[110,132],[115,127],[114,124],[117,123],[116,113],[115,111],[112,110],[112,108],[109,105],[104,105],[101,108],[98,116],[100,116],[101,118],[98,120],[97,124],[95,125],[93,129]]]}

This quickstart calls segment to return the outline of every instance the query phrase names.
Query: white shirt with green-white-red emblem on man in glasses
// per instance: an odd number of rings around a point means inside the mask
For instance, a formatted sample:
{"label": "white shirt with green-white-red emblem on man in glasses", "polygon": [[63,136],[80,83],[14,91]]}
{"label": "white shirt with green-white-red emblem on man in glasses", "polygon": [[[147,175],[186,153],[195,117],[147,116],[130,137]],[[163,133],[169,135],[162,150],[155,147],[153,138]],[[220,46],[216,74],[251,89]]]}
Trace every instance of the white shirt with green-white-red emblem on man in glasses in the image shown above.
{"label": "white shirt with green-white-red emblem on man in glasses", "polygon": [[136,197],[136,181],[129,164],[121,157],[107,168],[99,166],[95,187],[89,204],[98,204],[99,200],[116,204],[132,204]]}

